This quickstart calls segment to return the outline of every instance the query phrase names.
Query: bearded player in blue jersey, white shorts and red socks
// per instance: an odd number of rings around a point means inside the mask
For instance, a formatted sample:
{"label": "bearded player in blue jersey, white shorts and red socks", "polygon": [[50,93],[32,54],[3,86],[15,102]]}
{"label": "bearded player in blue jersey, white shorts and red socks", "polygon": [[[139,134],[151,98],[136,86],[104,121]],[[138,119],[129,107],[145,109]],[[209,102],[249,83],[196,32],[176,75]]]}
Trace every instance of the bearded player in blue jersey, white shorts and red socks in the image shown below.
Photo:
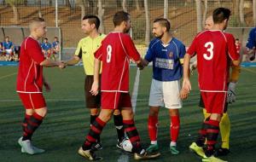
{"label": "bearded player in blue jersey, white shorts and red socks", "polygon": [[179,98],[180,78],[183,75],[183,56],[185,46],[172,37],[171,24],[166,19],[156,19],[153,24],[154,39],[150,42],[144,63],[153,61],[153,79],[149,95],[148,134],[150,146],[148,152],[158,152],[157,143],[158,114],[165,106],[170,116],[170,151],[178,154],[177,137],[179,133],[179,113],[182,101]]}

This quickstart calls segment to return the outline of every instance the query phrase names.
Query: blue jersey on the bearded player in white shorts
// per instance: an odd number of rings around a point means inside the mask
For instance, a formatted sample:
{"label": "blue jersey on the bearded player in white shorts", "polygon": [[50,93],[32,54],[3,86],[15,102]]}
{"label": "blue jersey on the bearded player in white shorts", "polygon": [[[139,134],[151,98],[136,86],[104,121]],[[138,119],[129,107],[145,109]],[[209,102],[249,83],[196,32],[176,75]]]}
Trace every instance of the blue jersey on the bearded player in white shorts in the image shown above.
{"label": "blue jersey on the bearded player in white shorts", "polygon": [[154,79],[173,81],[183,76],[180,59],[183,59],[185,53],[185,46],[177,38],[172,38],[168,44],[163,44],[160,38],[154,38],[149,44],[145,60],[153,61]]}

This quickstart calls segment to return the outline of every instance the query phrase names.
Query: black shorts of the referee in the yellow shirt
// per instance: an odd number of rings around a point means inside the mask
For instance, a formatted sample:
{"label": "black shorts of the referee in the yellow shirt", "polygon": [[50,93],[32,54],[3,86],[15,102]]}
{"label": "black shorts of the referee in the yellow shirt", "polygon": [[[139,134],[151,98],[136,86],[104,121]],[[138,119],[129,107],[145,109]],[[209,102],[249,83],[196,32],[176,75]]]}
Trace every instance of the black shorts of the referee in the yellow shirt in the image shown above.
{"label": "black shorts of the referee in the yellow shirt", "polygon": [[93,84],[93,75],[87,75],[84,79],[84,95],[87,108],[101,107],[101,93],[98,95],[91,95],[90,89]]}

